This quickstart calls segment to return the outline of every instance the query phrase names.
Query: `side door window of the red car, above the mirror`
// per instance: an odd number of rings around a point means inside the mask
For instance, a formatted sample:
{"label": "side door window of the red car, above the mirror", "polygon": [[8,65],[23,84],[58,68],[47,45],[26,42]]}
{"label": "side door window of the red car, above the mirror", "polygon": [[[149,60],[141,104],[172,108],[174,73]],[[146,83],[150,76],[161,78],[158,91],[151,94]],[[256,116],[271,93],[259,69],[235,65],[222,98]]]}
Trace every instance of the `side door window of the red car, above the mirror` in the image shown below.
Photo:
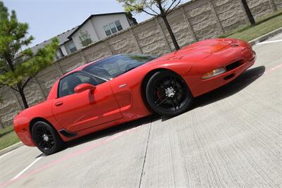
{"label": "side door window of the red car, above the mirror", "polygon": [[60,80],[58,96],[63,97],[74,94],[75,87],[77,87],[79,84],[97,85],[102,84],[102,82],[105,81],[97,77],[92,77],[90,75],[85,75],[82,73],[73,73],[71,75],[63,77],[63,79]]}

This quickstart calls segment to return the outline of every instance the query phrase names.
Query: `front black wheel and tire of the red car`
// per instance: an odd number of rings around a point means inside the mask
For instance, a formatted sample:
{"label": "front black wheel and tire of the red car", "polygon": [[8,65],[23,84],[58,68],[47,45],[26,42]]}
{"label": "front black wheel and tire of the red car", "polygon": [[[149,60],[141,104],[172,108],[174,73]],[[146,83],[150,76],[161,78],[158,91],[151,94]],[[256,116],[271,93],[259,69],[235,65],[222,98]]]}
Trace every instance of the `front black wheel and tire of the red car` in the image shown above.
{"label": "front black wheel and tire of the red car", "polygon": [[147,83],[146,99],[154,112],[175,116],[189,108],[193,96],[180,75],[170,71],[158,71]]}

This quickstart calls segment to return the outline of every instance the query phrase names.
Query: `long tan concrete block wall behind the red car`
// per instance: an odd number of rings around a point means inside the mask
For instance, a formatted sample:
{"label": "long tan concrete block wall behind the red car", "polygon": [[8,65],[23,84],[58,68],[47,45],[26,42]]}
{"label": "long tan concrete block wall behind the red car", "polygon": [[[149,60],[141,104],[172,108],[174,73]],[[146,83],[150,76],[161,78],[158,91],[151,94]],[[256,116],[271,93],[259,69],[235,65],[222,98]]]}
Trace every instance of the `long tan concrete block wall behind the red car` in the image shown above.
{"label": "long tan concrete block wall behind the red car", "polygon": [[[282,9],[282,0],[247,0],[255,18]],[[180,47],[221,35],[248,22],[240,0],[193,0],[168,15]],[[113,54],[156,54],[174,50],[162,18],[152,18],[128,30],[67,56],[40,72],[25,89],[30,106],[44,101],[51,86],[63,74],[85,63]],[[8,87],[0,89],[0,128],[12,124],[23,109],[20,95]]]}

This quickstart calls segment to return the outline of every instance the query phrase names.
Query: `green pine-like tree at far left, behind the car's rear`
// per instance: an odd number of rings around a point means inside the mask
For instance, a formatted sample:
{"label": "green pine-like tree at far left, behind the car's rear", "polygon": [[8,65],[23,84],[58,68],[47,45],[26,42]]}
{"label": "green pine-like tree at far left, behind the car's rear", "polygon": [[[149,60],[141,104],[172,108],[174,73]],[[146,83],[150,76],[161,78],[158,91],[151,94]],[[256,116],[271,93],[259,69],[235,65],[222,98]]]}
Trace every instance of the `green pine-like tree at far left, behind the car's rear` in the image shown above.
{"label": "green pine-like tree at far left, behind the car's rear", "polygon": [[19,23],[16,12],[8,13],[8,8],[0,1],[0,85],[11,87],[23,99],[28,108],[24,89],[40,70],[54,62],[58,39],[33,53],[27,48],[34,39],[28,36],[27,23]]}

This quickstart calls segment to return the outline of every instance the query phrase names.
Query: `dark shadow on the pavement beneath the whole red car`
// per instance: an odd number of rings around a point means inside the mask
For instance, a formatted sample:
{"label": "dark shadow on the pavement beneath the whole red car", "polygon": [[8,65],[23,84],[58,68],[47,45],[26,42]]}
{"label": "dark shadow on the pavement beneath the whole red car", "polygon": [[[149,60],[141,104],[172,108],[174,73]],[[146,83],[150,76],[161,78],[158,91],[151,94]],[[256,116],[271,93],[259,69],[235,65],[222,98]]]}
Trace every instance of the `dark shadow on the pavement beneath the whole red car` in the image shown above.
{"label": "dark shadow on the pavement beneath the whole red car", "polygon": [[[198,108],[200,106],[206,106],[208,104],[212,104],[216,101],[225,99],[228,96],[232,96],[233,94],[240,92],[240,90],[244,89],[248,85],[252,84],[252,82],[257,80],[259,77],[261,77],[264,74],[264,72],[265,72],[264,66],[259,66],[257,68],[251,68],[247,70],[245,73],[237,77],[232,82],[224,85],[223,87],[220,87],[219,89],[216,89],[202,96],[196,97],[192,107],[188,109],[188,111],[192,111],[193,109]],[[166,118],[166,117],[163,117],[157,114],[149,115],[145,118],[140,118],[138,120],[134,120],[128,123],[116,125],[114,127],[107,128],[106,130],[101,130],[98,132],[94,132],[92,134],[87,134],[84,137],[74,139],[66,143],[66,149],[74,147],[74,146],[78,146],[86,142],[91,142],[97,139],[101,139],[103,137],[109,137],[111,135],[117,134],[118,132],[130,130],[134,127],[139,127],[147,123],[152,123],[159,119],[161,119],[162,121],[165,121],[170,118]]]}

